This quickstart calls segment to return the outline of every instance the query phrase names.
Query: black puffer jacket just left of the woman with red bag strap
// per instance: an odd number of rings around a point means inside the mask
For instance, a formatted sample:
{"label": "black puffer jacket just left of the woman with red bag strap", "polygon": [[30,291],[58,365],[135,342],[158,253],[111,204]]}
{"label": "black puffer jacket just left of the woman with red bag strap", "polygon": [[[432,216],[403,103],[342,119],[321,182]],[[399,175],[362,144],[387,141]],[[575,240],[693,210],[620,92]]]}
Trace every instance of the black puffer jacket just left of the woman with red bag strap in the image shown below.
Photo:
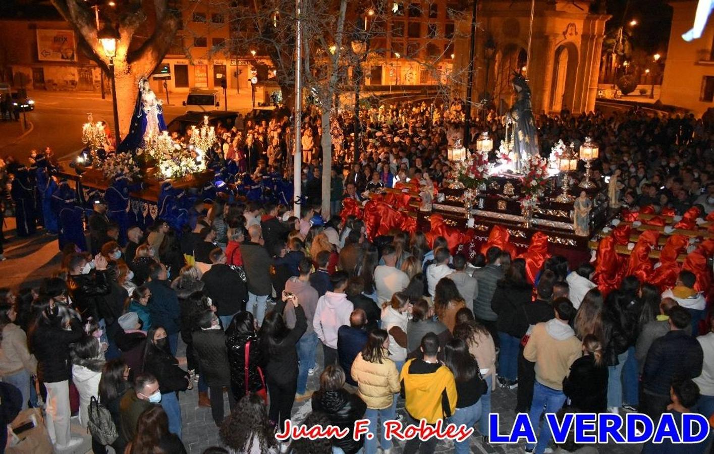
{"label": "black puffer jacket just left of the woman with red bag strap", "polygon": [[208,386],[231,384],[226,354],[226,333],[223,330],[193,331],[193,350]]}

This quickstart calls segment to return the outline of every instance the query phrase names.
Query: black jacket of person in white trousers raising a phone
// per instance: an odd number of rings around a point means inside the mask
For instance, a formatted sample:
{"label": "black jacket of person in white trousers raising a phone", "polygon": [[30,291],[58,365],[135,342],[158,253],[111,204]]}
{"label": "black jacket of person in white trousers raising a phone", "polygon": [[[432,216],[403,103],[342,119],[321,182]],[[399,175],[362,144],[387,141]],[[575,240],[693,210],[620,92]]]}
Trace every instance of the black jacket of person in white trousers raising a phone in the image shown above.
{"label": "black jacket of person in white trousers raising a phone", "polygon": [[60,328],[53,316],[46,320],[44,315],[30,331],[30,346],[37,358],[37,377],[44,383],[57,383],[72,378],[72,363],[69,345],[75,343],[84,331],[79,321],[72,318],[70,331]]}

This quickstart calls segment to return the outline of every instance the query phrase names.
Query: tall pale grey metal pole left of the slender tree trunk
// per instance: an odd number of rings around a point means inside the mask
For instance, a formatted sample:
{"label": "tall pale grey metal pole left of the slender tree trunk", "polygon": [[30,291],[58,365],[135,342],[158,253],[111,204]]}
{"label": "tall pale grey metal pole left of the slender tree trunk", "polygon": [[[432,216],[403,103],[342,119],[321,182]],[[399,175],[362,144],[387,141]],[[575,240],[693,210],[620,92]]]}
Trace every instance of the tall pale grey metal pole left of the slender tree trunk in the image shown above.
{"label": "tall pale grey metal pole left of the slender tree trunk", "polygon": [[293,129],[295,139],[295,156],[293,157],[293,216],[301,217],[300,201],[302,196],[302,134],[300,126],[303,112],[303,30],[302,30],[302,1],[295,0],[295,117],[293,118]]}

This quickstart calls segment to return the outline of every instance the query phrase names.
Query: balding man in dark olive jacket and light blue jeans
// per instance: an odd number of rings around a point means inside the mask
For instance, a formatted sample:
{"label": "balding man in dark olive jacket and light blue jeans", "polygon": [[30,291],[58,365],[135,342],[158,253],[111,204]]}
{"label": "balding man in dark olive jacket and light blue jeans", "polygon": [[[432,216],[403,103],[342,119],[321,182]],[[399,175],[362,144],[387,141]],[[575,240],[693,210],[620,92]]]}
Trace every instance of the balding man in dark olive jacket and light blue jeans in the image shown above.
{"label": "balding man in dark olive jacket and light blue jeans", "polygon": [[266,301],[273,290],[270,279],[270,267],[273,260],[263,247],[263,233],[260,224],[248,227],[250,240],[241,246],[243,268],[248,278],[248,306],[258,325],[263,323],[266,313]]}

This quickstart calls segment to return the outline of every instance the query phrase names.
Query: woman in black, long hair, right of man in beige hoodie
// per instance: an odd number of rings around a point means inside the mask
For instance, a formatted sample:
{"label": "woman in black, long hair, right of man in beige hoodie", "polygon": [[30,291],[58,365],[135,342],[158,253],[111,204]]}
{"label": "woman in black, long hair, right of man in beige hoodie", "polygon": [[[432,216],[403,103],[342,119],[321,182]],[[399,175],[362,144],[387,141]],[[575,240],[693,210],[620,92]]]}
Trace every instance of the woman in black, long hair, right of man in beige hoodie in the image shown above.
{"label": "woman in black, long hair, right of man in beige hoodie", "polygon": [[570,406],[582,413],[605,413],[608,406],[608,367],[603,344],[588,334],[583,339],[583,356],[570,365],[563,379],[563,393]]}

